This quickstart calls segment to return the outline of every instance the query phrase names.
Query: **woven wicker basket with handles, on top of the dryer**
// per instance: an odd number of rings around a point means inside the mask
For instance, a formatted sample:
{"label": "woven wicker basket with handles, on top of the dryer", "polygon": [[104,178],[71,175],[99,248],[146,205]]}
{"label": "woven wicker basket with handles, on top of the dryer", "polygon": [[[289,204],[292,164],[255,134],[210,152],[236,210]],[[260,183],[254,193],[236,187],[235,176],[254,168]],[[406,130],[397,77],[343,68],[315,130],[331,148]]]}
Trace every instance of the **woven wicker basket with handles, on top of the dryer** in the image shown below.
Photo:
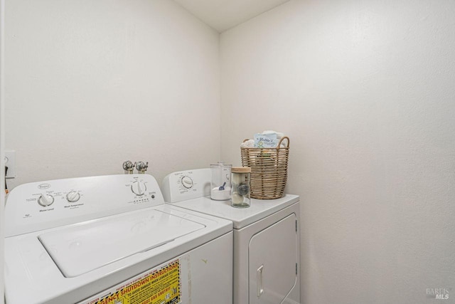
{"label": "woven wicker basket with handles, on top of the dryer", "polygon": [[[283,140],[286,147],[280,147]],[[246,141],[246,140],[245,140]],[[244,142],[245,142],[244,141]],[[279,199],[287,182],[289,137],[282,137],[276,148],[240,148],[242,166],[251,168],[253,199]]]}

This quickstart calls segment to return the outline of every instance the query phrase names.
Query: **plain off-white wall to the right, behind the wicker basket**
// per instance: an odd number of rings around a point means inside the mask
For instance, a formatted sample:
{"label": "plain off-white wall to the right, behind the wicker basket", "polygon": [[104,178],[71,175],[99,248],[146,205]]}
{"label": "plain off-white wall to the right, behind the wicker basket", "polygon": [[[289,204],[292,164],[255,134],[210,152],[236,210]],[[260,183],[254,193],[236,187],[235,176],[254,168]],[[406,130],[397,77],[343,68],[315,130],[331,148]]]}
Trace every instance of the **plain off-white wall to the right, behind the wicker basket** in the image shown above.
{"label": "plain off-white wall to the right, behind the wicker basket", "polygon": [[294,0],[221,34],[222,158],[262,130],[291,139],[302,303],[455,298],[454,16]]}

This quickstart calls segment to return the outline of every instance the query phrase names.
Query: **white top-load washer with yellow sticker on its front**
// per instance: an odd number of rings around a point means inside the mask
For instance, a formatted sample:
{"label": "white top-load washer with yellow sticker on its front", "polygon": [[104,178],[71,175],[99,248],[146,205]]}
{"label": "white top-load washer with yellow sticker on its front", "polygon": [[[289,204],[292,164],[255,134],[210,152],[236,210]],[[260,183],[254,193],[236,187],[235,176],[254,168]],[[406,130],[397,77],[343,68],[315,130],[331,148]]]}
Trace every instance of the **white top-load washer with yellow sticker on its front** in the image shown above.
{"label": "white top-load washer with yellow sticker on its front", "polygon": [[232,222],[168,204],[148,174],[16,187],[7,304],[232,303]]}

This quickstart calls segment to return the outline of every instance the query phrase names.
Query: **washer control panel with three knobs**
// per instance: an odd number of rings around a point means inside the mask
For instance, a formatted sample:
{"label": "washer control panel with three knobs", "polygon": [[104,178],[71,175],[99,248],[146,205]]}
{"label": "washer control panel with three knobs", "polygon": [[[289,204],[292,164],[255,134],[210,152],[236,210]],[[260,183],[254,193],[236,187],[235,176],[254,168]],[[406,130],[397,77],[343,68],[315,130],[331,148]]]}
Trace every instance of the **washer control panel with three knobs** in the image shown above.
{"label": "washer control panel with three knobs", "polygon": [[118,174],[22,184],[6,199],[5,236],[25,234],[164,204],[149,174]]}

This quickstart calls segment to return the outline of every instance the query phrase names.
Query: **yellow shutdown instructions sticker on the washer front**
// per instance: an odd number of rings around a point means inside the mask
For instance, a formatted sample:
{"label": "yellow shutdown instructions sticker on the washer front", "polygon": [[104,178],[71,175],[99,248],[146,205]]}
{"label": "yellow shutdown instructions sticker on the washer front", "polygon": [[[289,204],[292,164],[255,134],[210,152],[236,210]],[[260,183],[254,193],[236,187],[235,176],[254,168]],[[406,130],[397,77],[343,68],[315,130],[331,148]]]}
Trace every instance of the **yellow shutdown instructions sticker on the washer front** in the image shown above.
{"label": "yellow shutdown instructions sticker on the washer front", "polygon": [[180,261],[145,273],[93,304],[177,304],[181,301]]}

